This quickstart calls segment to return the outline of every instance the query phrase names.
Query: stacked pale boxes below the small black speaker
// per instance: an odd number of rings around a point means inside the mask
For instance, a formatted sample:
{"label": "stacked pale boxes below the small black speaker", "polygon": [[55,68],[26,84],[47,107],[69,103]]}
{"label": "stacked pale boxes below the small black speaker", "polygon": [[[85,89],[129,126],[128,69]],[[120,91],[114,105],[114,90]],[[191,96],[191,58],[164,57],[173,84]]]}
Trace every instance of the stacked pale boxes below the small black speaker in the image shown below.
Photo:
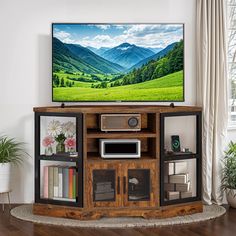
{"label": "stacked pale boxes below the small black speaker", "polygon": [[164,188],[167,200],[192,197],[187,162],[166,162],[164,168]]}

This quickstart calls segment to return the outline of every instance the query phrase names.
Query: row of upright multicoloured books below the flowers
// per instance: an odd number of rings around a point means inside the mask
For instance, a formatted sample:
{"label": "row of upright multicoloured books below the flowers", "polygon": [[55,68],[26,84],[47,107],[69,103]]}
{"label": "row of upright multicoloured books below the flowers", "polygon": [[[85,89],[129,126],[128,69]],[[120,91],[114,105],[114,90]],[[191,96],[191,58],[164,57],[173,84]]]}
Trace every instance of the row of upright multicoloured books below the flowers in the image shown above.
{"label": "row of upright multicoloured books below the flowers", "polygon": [[69,166],[44,166],[43,198],[75,202],[76,168]]}

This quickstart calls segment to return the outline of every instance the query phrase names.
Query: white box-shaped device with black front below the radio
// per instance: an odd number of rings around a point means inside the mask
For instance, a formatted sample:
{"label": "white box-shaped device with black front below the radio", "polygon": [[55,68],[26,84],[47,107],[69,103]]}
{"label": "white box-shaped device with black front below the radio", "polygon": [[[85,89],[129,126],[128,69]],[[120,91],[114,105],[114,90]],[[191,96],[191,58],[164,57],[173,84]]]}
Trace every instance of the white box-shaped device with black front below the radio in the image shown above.
{"label": "white box-shaped device with black front below the radio", "polygon": [[140,158],[141,141],[138,139],[100,139],[102,158]]}

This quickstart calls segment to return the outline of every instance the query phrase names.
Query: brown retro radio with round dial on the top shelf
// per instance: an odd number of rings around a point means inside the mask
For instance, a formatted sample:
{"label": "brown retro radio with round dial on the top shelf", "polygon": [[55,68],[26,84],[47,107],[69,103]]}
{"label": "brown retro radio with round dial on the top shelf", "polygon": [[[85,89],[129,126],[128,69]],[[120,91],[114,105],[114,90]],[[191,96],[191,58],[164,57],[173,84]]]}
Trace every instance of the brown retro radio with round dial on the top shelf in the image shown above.
{"label": "brown retro radio with round dial on the top shelf", "polygon": [[140,114],[102,114],[100,115],[102,131],[140,131]]}

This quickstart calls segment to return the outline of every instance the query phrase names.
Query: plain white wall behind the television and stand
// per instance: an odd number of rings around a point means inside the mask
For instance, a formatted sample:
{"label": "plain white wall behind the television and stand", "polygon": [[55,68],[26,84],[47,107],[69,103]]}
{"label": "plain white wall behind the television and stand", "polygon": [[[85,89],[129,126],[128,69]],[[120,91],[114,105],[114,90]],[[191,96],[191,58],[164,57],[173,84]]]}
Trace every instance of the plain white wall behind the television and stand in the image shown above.
{"label": "plain white wall behind the television and stand", "polygon": [[13,172],[14,202],[34,199],[33,107],[51,104],[52,22],[185,23],[185,103],[196,101],[195,0],[1,0],[0,133],[32,158]]}

